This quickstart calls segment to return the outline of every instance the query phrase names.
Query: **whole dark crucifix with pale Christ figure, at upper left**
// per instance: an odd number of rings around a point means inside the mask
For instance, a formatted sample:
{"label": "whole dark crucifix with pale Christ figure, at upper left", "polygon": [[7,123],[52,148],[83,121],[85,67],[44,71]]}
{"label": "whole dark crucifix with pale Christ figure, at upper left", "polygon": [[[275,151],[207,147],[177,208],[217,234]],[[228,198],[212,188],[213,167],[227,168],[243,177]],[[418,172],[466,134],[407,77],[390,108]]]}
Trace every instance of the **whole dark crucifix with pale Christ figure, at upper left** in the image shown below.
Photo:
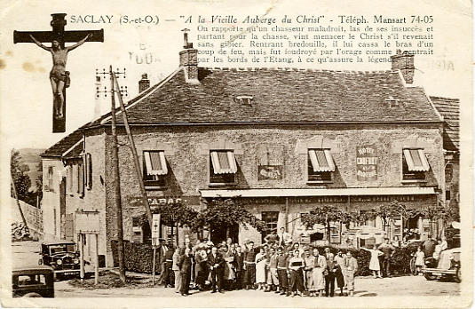
{"label": "whole dark crucifix with pale Christ figure, at upper left", "polygon": [[[66,131],[66,88],[69,87],[69,72],[66,71],[67,52],[74,50],[84,42],[104,42],[104,29],[65,31],[67,20],[65,13],[51,14],[52,31],[13,31],[13,43],[35,43],[45,51],[51,52],[52,64],[50,72],[51,90],[53,93],[52,132]],[[44,46],[50,42],[51,47]],[[75,42],[65,46],[67,42]]]}

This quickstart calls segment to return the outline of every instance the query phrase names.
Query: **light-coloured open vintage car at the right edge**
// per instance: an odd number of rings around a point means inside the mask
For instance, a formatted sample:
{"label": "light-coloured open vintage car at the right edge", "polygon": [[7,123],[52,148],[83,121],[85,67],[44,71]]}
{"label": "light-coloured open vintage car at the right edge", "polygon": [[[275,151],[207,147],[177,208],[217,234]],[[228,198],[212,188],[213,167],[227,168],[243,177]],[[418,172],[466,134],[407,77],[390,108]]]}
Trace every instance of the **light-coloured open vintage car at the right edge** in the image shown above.
{"label": "light-coloured open vintage car at the right edge", "polygon": [[422,269],[425,279],[435,280],[438,277],[450,276],[457,282],[462,281],[460,252],[460,248],[454,248],[440,252],[439,260],[426,258]]}

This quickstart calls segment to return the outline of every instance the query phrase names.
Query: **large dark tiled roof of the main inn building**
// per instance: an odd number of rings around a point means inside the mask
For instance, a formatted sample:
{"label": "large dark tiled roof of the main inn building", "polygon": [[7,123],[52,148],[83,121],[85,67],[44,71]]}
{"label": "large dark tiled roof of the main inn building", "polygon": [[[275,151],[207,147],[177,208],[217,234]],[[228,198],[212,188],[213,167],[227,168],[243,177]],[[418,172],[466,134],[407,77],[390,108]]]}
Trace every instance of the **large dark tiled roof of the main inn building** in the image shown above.
{"label": "large dark tiled roof of the main inn building", "polygon": [[[134,99],[130,123],[325,123],[441,121],[424,89],[398,71],[200,68],[200,83],[180,69]],[[239,96],[251,96],[242,104]],[[399,107],[390,107],[394,99]],[[106,117],[103,123],[110,123]],[[122,123],[122,117],[117,117]],[[91,123],[91,124],[97,124]]]}

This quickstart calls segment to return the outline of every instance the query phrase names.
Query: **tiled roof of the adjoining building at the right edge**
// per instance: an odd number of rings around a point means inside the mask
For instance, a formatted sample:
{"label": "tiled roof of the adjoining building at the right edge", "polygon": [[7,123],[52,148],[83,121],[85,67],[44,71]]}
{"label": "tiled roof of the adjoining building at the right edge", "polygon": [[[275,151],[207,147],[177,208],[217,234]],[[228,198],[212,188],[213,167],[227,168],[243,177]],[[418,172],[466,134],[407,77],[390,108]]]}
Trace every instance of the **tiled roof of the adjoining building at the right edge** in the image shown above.
{"label": "tiled roof of the adjoining building at the right edge", "polygon": [[431,100],[440,115],[444,117],[444,149],[458,151],[460,149],[460,99],[431,97]]}

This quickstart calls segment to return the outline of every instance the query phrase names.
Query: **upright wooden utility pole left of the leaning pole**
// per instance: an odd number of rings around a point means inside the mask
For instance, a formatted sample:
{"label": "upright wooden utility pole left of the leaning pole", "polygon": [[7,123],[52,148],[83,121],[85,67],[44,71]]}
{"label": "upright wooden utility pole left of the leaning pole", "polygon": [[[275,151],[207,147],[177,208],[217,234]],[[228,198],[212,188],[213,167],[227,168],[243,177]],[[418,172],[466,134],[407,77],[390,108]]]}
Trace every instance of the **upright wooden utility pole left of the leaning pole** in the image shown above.
{"label": "upright wooden utility pole left of the leaning pole", "polygon": [[[112,118],[112,169],[114,184],[114,203],[117,209],[117,250],[119,259],[119,277],[121,281],[125,282],[125,263],[124,263],[124,250],[123,250],[123,218],[122,218],[122,202],[121,202],[121,178],[119,174],[119,154],[117,146],[117,125],[115,123],[115,88],[114,88],[114,76],[112,66],[109,67],[110,83],[111,83],[111,118]],[[120,95],[119,95],[120,97]]]}

